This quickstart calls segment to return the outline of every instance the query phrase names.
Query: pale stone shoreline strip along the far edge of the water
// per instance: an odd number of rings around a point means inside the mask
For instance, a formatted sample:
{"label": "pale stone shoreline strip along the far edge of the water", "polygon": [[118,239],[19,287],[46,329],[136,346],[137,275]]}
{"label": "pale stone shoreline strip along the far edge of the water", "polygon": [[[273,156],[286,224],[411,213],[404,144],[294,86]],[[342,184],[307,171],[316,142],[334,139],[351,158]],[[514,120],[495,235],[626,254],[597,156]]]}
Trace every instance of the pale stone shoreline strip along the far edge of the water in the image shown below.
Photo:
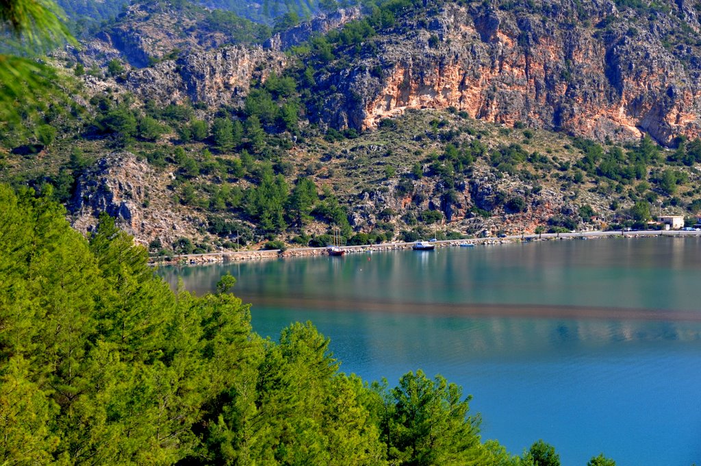
{"label": "pale stone shoreline strip along the far edge of the water", "polygon": [[[613,232],[570,232],[570,233],[543,233],[543,234],[523,234],[508,237],[487,237],[470,239],[444,239],[433,241],[437,248],[458,247],[462,243],[474,244],[475,246],[487,246],[494,244],[519,243],[522,241],[559,241],[564,239],[602,239],[602,238],[639,238],[639,237],[701,237],[698,231],[683,230],[641,230],[641,231],[620,231]],[[376,251],[398,251],[409,249],[414,245],[410,243],[383,243],[383,244],[363,244],[360,246],[341,246],[348,254],[376,252]],[[203,254],[183,254],[174,255],[170,260],[162,258],[149,258],[149,265],[205,265],[221,262],[237,262],[248,260],[269,260],[278,258],[304,257],[312,255],[327,255],[327,248],[290,248],[285,251],[280,249],[267,249],[257,251],[220,251],[216,253]]]}

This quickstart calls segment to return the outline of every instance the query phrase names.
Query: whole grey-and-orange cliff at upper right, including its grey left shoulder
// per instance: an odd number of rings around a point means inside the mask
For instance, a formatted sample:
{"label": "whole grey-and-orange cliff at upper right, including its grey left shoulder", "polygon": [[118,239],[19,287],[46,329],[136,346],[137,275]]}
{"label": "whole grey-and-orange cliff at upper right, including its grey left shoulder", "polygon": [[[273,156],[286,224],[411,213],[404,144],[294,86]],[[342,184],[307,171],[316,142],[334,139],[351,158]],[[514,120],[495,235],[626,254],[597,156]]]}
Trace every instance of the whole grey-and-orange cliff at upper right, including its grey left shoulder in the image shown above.
{"label": "whole grey-and-orange cliff at upper right, including its grey left shoulder", "polygon": [[455,107],[507,126],[670,145],[701,132],[699,27],[690,1],[641,11],[610,0],[447,2],[367,41],[350,64],[341,51],[343,69],[317,75],[336,104],[318,117],[367,129],[406,109]]}

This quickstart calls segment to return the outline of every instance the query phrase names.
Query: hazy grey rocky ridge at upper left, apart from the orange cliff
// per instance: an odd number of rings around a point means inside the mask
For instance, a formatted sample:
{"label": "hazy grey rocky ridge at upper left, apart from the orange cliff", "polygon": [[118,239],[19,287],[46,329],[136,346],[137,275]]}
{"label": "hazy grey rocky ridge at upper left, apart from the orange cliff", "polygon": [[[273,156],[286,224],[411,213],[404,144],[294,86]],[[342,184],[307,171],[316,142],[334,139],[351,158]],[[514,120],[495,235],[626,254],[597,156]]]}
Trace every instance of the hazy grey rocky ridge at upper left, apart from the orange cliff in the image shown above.
{"label": "hazy grey rocky ridge at upper left, apart from the orange cliff", "polygon": [[[270,36],[265,27],[227,13],[190,4],[139,3],[72,52],[85,67],[107,69],[111,60],[123,62],[127,73],[120,76],[118,87],[142,100],[168,105],[189,99],[217,109],[240,104],[251,82],[283,72],[289,61],[283,51],[360,15],[360,8],[322,13]],[[259,44],[248,44],[252,41]]]}

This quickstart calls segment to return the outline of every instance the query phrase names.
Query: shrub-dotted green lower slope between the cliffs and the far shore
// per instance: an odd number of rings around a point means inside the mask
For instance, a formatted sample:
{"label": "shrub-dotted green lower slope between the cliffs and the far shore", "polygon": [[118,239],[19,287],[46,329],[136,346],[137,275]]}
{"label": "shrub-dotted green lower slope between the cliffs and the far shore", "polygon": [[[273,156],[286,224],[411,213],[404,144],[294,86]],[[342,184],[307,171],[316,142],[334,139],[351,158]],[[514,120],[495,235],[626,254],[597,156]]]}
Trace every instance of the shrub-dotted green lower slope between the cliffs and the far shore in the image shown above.
{"label": "shrub-dotted green lower slope between the cliffs and the far shore", "polygon": [[[95,116],[81,136],[51,140],[49,132],[48,145],[27,147],[41,157],[8,154],[4,178],[37,189],[53,185],[53,197],[74,215],[92,218],[93,206],[102,205],[126,227],[136,223],[130,232],[165,255],[273,239],[325,246],[333,227],[344,243],[367,244],[436,230],[437,237],[458,238],[644,227],[660,212],[691,218],[701,209],[697,141],[674,150],[649,138],[600,145],[429,111],[362,135],[299,130],[299,104],[283,97],[285,84],[266,90],[277,80],[254,91],[235,118],[222,112],[211,122],[189,106],[130,109],[118,96],[93,99]],[[107,185],[91,187],[103,178]],[[139,229],[134,220],[166,211],[189,220],[173,220],[179,229],[170,231],[149,229],[148,221]]]}

